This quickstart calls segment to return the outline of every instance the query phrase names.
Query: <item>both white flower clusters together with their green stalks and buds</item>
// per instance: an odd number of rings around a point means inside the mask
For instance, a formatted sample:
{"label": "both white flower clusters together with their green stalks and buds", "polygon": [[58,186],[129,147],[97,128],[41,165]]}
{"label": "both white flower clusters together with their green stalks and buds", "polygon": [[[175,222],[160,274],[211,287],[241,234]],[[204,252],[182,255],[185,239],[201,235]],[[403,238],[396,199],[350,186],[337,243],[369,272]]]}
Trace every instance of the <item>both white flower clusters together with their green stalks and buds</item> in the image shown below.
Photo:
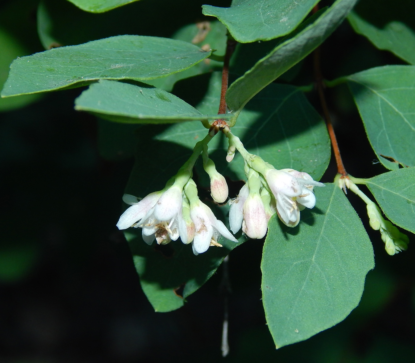
{"label": "both white flower clusters together with their green stalks and buds", "polygon": [[[229,226],[232,232],[237,233],[242,227],[243,233],[248,237],[263,238],[268,221],[275,211],[284,224],[297,226],[300,211],[315,205],[314,186],[324,184],[315,182],[304,172],[275,169],[259,156],[247,152],[239,138],[229,129],[225,131],[229,139],[227,161],[231,162],[235,150],[238,150],[245,160],[248,179],[237,198],[229,201]],[[196,184],[191,178],[191,170],[201,153],[203,167],[210,177],[213,200],[223,203],[228,198],[225,178],[217,172],[207,153],[206,142],[210,138],[208,134],[196,144],[192,156],[163,190],[151,193],[141,201],[125,194],[123,199],[131,207],[122,214],[117,227],[141,227],[143,240],[148,244],[154,240],[166,244],[180,237],[183,243],[192,243],[195,255],[205,252],[212,245],[222,247],[218,243],[220,235],[237,242],[212,210],[200,201]]]}

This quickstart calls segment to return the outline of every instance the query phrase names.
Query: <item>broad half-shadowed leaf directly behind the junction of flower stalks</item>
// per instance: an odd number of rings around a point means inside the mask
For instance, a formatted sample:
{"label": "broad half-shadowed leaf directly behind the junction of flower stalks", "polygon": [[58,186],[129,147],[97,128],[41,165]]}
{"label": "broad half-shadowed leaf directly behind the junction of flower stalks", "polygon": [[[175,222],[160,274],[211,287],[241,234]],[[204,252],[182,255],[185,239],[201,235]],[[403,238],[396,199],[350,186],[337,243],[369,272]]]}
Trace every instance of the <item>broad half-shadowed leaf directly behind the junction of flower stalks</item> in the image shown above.
{"label": "broad half-shadowed leaf directly behind the junction of flower stalks", "polygon": [[[194,81],[198,83],[197,77]],[[196,106],[198,110],[212,113],[217,109],[220,85],[220,74],[213,74],[205,99]],[[261,156],[277,169],[293,168],[318,180],[330,160],[330,139],[325,123],[304,94],[293,86],[273,83],[266,87],[247,104],[232,132],[249,152]],[[198,123],[181,123],[156,138],[193,148],[195,140],[201,140],[205,134],[206,129]],[[223,174],[233,180],[245,178],[244,162],[239,153],[229,164],[225,161],[227,140],[223,135],[215,137],[208,146],[211,153],[218,155],[215,162]]]}

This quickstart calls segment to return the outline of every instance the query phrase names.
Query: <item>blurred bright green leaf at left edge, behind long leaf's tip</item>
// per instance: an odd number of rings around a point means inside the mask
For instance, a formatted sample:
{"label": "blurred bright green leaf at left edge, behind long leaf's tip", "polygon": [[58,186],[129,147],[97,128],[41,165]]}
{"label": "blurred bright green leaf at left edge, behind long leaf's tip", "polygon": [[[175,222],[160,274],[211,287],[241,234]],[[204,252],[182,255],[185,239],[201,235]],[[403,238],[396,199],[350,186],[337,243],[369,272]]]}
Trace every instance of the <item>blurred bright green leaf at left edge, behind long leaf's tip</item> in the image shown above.
{"label": "blurred bright green leaf at left edge, behind long leaf's tip", "polygon": [[[24,54],[27,53],[19,42],[0,28],[0,88],[7,79],[12,60]],[[37,99],[39,99],[39,95],[0,98],[0,112],[23,107]]]}

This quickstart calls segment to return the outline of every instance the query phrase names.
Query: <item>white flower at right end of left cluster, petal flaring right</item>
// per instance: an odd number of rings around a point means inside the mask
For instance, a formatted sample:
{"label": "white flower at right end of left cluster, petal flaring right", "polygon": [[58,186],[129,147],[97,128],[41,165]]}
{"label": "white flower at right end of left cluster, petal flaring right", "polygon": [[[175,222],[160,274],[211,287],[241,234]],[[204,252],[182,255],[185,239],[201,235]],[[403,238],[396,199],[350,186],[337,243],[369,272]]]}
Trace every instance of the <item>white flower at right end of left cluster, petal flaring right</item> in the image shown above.
{"label": "white flower at right end of left cluster, petal flaring right", "polygon": [[193,239],[193,253],[195,255],[207,251],[210,245],[221,246],[217,243],[220,234],[228,240],[238,242],[222,221],[219,221],[211,209],[200,200],[190,206],[190,218],[192,218],[195,225],[195,237]]}

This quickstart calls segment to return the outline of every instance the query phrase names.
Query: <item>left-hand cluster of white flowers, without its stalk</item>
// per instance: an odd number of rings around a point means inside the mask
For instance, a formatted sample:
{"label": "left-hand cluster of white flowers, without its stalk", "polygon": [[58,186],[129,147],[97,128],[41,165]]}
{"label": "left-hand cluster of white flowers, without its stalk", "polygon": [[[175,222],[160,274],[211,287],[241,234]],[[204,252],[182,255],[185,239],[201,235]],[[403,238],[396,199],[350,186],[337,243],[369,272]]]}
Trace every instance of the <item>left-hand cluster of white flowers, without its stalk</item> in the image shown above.
{"label": "left-hand cluster of white flowers, without its stalk", "polygon": [[192,243],[193,252],[198,255],[211,245],[221,246],[217,243],[219,235],[237,242],[222,221],[200,201],[192,179],[183,189],[173,184],[166,190],[147,195],[141,201],[129,194],[125,194],[123,200],[131,207],[122,213],[117,227],[142,227],[143,240],[149,245],[154,240],[166,244],[180,237],[183,243]]}

